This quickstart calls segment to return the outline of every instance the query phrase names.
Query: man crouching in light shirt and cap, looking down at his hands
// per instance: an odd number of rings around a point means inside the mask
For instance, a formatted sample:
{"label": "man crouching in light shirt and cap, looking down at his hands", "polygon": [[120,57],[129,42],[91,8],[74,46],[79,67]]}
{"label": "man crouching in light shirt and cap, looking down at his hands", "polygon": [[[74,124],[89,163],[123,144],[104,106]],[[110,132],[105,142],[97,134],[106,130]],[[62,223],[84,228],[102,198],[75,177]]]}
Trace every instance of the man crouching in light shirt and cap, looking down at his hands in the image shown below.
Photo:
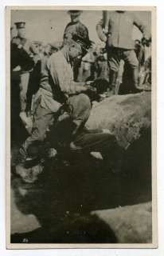
{"label": "man crouching in light shirt and cap, looking down at his hands", "polygon": [[[40,89],[34,100],[34,122],[32,134],[20,149],[20,162],[16,172],[24,177],[25,164],[31,161],[28,149],[33,142],[46,141],[48,130],[53,127],[52,141],[70,150],[99,150],[100,144],[107,144],[111,134],[96,131],[81,134],[90,115],[92,104],[85,94],[88,86],[84,82],[74,82],[72,62],[80,55],[86,54],[86,45],[81,38],[72,37],[63,48],[48,59],[41,74]],[[77,134],[80,132],[80,137]],[[103,134],[103,136],[102,136]],[[92,136],[93,135],[93,136]],[[56,152],[54,150],[54,152]]]}

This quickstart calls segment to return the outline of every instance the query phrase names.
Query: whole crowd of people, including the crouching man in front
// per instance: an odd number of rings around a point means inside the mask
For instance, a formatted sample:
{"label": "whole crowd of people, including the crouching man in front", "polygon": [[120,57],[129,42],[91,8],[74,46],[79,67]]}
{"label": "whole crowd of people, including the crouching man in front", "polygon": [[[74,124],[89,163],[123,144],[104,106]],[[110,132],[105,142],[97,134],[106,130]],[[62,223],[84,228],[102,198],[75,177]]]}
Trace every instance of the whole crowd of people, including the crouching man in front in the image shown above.
{"label": "whole crowd of people, including the crouching man in front", "polygon": [[[146,26],[127,11],[103,11],[96,25],[100,46],[90,40],[81,12],[68,11],[71,22],[62,42],[31,42],[25,38],[25,22],[15,23],[17,35],[12,36],[11,29],[11,135],[13,141],[18,139],[14,129],[20,122],[28,134],[15,166],[24,180],[26,170],[40,172],[44,159],[61,151],[100,152],[103,158],[111,146],[118,152],[109,130],[85,128],[92,102],[120,94],[127,77],[131,82],[126,93],[150,90]],[[132,40],[134,25],[143,33],[142,42]]]}

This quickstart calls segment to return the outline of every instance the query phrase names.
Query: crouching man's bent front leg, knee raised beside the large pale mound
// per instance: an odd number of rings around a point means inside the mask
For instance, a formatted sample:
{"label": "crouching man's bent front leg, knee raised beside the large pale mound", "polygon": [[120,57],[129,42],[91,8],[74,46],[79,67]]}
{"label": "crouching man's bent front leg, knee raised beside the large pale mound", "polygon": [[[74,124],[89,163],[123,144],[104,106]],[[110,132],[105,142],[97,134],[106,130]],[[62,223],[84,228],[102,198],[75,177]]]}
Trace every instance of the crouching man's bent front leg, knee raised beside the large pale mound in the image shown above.
{"label": "crouching man's bent front leg, knee raised beside the large pale mound", "polygon": [[[118,143],[113,135],[103,130],[87,130],[84,128],[91,113],[91,103],[87,95],[79,94],[69,98],[68,103],[72,106],[72,122],[76,124],[73,132],[73,140],[70,144],[71,150],[78,152],[100,151],[109,153],[109,149],[118,147]],[[80,129],[82,128],[82,129]],[[66,129],[66,128],[65,128]]]}

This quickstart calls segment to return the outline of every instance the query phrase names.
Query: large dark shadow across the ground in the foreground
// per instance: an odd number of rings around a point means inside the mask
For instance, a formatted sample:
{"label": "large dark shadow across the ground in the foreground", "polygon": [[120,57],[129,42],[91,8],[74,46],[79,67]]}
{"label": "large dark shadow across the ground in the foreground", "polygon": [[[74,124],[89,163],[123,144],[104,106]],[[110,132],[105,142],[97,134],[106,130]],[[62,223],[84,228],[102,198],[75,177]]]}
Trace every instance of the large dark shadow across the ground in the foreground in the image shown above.
{"label": "large dark shadow across the ground in the foreground", "polygon": [[[103,161],[72,155],[71,164],[49,161],[37,182],[25,184],[12,176],[15,204],[23,214],[34,214],[41,228],[13,234],[11,242],[117,242],[109,226],[89,218],[92,210],[151,201],[151,132],[146,130],[128,149],[120,173]],[[20,194],[20,188],[26,190]],[[78,219],[78,222],[76,222]]]}

